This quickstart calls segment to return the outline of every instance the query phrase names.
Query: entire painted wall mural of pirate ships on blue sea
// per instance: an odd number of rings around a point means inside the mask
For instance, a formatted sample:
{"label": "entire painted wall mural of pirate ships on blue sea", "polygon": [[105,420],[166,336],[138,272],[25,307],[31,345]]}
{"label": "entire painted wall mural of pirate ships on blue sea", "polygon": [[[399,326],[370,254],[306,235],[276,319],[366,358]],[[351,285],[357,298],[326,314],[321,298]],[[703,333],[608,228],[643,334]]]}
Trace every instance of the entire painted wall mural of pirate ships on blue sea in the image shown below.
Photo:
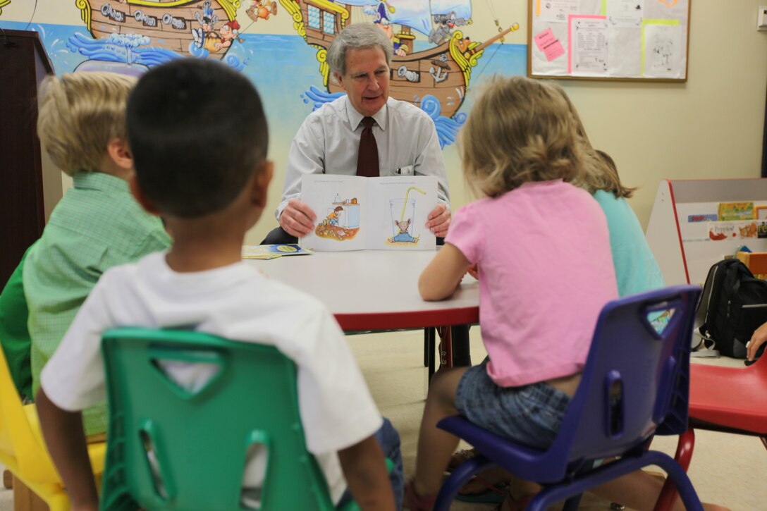
{"label": "entire painted wall mural of pirate ships on blue sea", "polygon": [[[0,27],[38,31],[57,73],[139,75],[175,58],[218,59],[247,74],[268,117],[278,112],[294,130],[307,107],[344,94],[329,76],[326,57],[338,31],[354,22],[372,21],[389,36],[395,48],[390,94],[433,118],[442,147],[456,140],[466,120],[466,94],[479,77],[525,73],[525,45],[503,44],[519,25],[504,27],[490,0],[485,12],[495,18],[497,32],[483,41],[463,33],[475,22],[469,0],[70,1],[40,4],[76,9],[79,26],[34,23],[34,12],[27,23],[11,20],[3,8],[8,12],[15,0],[0,0]],[[291,33],[258,33],[282,18],[290,20]]]}

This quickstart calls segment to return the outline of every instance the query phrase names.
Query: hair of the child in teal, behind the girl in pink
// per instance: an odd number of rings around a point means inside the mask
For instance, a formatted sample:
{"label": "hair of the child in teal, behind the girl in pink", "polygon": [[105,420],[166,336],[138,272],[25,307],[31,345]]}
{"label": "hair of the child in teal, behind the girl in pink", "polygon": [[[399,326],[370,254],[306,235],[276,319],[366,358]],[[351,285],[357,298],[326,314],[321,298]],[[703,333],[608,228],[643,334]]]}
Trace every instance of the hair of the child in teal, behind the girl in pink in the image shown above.
{"label": "hair of the child in teal, behind the girl in pink", "polygon": [[604,190],[605,192],[612,193],[618,199],[621,197],[629,199],[633,196],[637,189],[629,188],[621,183],[617,166],[615,166],[615,162],[610,155],[604,153],[604,151],[594,149],[594,146],[591,145],[591,140],[588,140],[581,116],[578,115],[578,110],[575,109],[575,105],[570,101],[568,94],[565,93],[565,89],[553,81],[546,82],[546,85],[557,91],[568,104],[570,114],[576,124],[576,130],[578,130],[578,137],[581,137],[586,153],[586,164],[581,167],[581,173],[574,177],[572,183],[587,190],[592,195],[597,190]]}

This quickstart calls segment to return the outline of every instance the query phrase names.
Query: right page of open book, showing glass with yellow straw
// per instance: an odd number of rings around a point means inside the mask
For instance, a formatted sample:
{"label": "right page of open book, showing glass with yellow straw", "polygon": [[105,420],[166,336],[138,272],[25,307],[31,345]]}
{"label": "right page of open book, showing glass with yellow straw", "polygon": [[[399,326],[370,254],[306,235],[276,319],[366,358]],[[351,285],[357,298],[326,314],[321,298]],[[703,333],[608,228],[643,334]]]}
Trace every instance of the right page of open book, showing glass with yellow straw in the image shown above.
{"label": "right page of open book, showing glass with yellow straw", "polygon": [[382,177],[371,180],[370,249],[429,250],[436,237],[426,228],[426,219],[436,207],[436,178],[433,176]]}

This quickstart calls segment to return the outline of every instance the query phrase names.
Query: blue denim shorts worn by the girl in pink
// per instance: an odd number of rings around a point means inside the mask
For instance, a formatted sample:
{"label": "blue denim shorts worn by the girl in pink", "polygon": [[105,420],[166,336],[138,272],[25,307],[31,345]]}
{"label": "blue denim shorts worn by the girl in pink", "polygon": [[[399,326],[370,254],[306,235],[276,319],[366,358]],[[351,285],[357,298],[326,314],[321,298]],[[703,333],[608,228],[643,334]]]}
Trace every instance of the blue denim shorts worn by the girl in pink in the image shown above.
{"label": "blue denim shorts worn by the girl in pink", "polygon": [[548,449],[570,397],[543,382],[499,387],[487,374],[486,358],[469,368],[456,390],[456,410],[477,426],[538,449]]}

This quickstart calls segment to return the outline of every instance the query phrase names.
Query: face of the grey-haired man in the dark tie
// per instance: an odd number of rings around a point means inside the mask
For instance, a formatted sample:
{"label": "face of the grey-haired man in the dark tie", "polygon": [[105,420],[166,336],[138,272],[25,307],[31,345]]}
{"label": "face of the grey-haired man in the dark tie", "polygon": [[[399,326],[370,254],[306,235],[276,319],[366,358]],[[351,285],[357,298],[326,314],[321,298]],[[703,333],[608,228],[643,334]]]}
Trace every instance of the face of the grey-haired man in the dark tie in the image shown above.
{"label": "face of the grey-haired man in the dark tie", "polygon": [[389,66],[384,50],[351,48],[346,52],[346,74],[336,74],[349,102],[360,114],[372,117],[389,99]]}

